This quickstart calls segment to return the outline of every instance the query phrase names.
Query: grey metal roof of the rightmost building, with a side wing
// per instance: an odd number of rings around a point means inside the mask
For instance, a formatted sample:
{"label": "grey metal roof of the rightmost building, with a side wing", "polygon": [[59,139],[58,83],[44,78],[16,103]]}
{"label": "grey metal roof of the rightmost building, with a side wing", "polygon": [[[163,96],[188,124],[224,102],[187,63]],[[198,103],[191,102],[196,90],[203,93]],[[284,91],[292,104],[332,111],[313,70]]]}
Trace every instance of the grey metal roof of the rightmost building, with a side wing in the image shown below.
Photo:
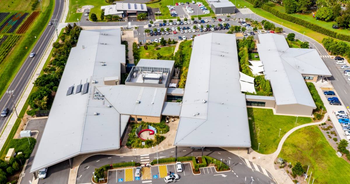
{"label": "grey metal roof of the rightmost building, with a side wing", "polygon": [[277,105],[316,108],[301,74],[331,75],[315,49],[289,48],[283,35],[259,34],[259,57]]}

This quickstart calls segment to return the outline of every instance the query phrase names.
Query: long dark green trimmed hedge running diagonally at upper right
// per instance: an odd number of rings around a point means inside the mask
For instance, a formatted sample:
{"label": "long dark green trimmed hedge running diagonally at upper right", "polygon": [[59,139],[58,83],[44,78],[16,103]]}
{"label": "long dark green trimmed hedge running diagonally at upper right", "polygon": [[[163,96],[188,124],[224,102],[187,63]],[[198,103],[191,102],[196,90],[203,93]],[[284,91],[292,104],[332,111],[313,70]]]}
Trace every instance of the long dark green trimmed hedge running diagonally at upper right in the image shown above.
{"label": "long dark green trimmed hedge running diagonally at upper right", "polygon": [[[250,4],[254,4],[254,0],[245,0],[245,1],[249,2]],[[292,15],[288,15],[286,13],[281,13],[278,10],[276,10],[275,8],[272,8],[272,7],[267,6],[265,4],[261,6],[261,9],[263,9],[263,10],[265,10],[265,11],[267,11],[267,12],[273,14],[273,15],[275,15],[278,18],[287,20],[289,22],[296,23],[296,24],[298,24],[300,26],[309,28],[309,29],[311,29],[311,30],[313,30],[313,31],[315,31],[317,33],[321,33],[321,34],[324,34],[324,35],[327,35],[327,36],[330,36],[330,37],[333,37],[333,38],[336,38],[336,39],[339,39],[339,40],[350,41],[350,36],[349,35],[340,34],[340,33],[334,32],[332,30],[329,30],[327,28],[318,26],[318,25],[316,25],[314,23],[308,22],[306,20],[296,18],[296,17],[294,17]]]}

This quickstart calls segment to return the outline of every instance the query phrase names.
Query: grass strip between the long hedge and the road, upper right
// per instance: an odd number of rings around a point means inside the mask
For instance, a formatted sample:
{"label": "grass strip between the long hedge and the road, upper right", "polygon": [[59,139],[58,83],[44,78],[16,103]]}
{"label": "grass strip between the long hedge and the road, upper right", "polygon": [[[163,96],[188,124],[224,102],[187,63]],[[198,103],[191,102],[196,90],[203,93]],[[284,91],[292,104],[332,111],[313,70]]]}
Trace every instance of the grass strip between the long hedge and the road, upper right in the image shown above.
{"label": "grass strip between the long hedge and the road, upper right", "polygon": [[[293,29],[296,32],[299,32],[301,34],[303,34],[303,32],[305,32],[305,35],[313,38],[314,40],[316,40],[319,43],[321,43],[323,38],[327,37],[321,33],[317,33],[311,29],[297,25],[293,22],[289,22],[287,20],[280,19],[280,18],[276,17],[275,15],[262,10],[261,8],[254,8],[253,5],[247,1],[244,1],[244,0],[230,0],[230,1],[233,2],[233,4],[235,4],[235,1],[237,1],[237,8],[246,6],[247,8],[250,8],[253,12],[255,12],[257,15],[260,15],[268,20],[274,21],[274,22],[279,23],[279,24],[281,24],[283,22],[283,26],[288,27],[290,29]],[[233,17],[240,18],[239,16],[233,16]],[[254,18],[254,15],[252,15],[252,19],[253,18]],[[258,20],[258,21],[261,22],[261,20]],[[335,39],[335,40],[338,40],[338,39]],[[340,41],[340,40],[338,40],[338,41]],[[346,42],[346,41],[344,41],[344,42],[347,43],[348,45],[350,45],[350,42]],[[310,45],[311,45],[311,43],[310,43]]]}

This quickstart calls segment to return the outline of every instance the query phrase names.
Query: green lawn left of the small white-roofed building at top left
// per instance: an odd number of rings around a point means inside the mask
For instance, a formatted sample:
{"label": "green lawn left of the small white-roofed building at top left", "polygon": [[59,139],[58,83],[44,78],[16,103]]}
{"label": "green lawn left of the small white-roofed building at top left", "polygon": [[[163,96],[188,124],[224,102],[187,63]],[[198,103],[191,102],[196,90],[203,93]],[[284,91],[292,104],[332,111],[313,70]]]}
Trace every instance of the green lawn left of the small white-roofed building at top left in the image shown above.
{"label": "green lawn left of the small white-roofed building at top left", "polygon": [[[89,17],[91,15],[91,13],[95,13],[97,15],[98,20],[100,20],[101,6],[110,5],[110,4],[108,4],[105,0],[70,0],[69,1],[69,12],[67,15],[66,22],[76,22],[77,19],[80,20],[83,13],[76,13],[76,11],[77,11],[77,8],[81,8],[82,6],[85,6],[85,5],[94,6],[90,10]],[[86,18],[86,17],[83,16],[83,18]]]}

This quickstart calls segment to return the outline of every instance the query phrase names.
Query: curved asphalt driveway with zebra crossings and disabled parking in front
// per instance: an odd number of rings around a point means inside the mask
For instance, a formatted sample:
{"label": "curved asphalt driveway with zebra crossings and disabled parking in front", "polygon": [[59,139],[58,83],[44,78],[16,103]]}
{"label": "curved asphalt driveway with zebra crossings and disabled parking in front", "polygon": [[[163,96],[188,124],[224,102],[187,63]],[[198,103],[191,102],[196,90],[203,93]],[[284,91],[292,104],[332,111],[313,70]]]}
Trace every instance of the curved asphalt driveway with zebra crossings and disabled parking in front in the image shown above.
{"label": "curved asphalt driveway with zebra crossings and disabled parking in front", "polygon": [[[246,150],[243,150],[243,151],[246,151]],[[201,150],[192,150],[188,147],[178,147],[177,152],[178,152],[177,156],[179,157],[180,156],[201,156],[202,154]],[[217,183],[217,182],[250,183],[252,181],[251,177],[253,177],[253,179],[256,180],[258,183],[275,183],[274,180],[271,179],[272,178],[271,174],[265,170],[263,171],[263,169],[260,166],[253,165],[251,162],[246,161],[244,158],[241,158],[235,154],[232,154],[229,151],[226,151],[224,149],[205,148],[203,155],[208,155],[218,160],[223,159],[223,162],[227,163],[231,168],[230,172],[222,173],[224,175],[227,175],[227,177],[217,175],[221,173],[217,173],[214,168],[204,168],[204,169],[202,168],[200,175],[193,175],[190,169],[190,165],[188,164],[188,165],[184,165],[184,172],[177,173],[181,177],[178,182],[180,183]],[[175,148],[158,152],[158,158],[165,158],[165,157],[166,158],[175,157]],[[149,161],[152,161],[153,159],[156,159],[156,158],[157,158],[157,153],[149,154],[149,155],[141,155],[141,156],[94,155],[87,158],[80,165],[78,169],[78,175],[77,175],[77,184],[91,183],[92,172],[94,172],[94,169],[99,168],[100,166],[103,166],[106,164],[131,162],[131,161],[135,162],[136,160],[137,162],[140,162],[140,160],[146,161],[148,159]],[[146,161],[146,162],[149,162],[149,161]],[[246,165],[247,162],[248,164],[250,164],[250,167]],[[152,183],[163,183],[164,181],[162,181],[163,179],[161,178],[161,173],[160,173],[162,172],[161,170],[162,169],[160,167],[158,168],[158,166],[152,166],[151,172],[148,174],[148,177],[145,178],[146,174],[144,174],[143,178],[140,178],[140,180],[143,181],[142,183],[144,182],[151,183],[151,182],[144,181],[146,179],[152,179]],[[167,170],[166,173],[168,173],[169,171],[176,173],[176,170],[173,164],[167,165],[166,170]],[[128,179],[125,173],[126,171],[124,171],[124,169],[109,172],[109,178],[111,181],[109,181],[108,183],[117,183],[117,181],[120,178],[122,178],[124,182],[128,181],[128,183],[131,183],[131,184],[141,183],[141,181],[139,181],[135,177],[130,177],[130,179]],[[154,175],[157,175],[156,178],[154,178]]]}

